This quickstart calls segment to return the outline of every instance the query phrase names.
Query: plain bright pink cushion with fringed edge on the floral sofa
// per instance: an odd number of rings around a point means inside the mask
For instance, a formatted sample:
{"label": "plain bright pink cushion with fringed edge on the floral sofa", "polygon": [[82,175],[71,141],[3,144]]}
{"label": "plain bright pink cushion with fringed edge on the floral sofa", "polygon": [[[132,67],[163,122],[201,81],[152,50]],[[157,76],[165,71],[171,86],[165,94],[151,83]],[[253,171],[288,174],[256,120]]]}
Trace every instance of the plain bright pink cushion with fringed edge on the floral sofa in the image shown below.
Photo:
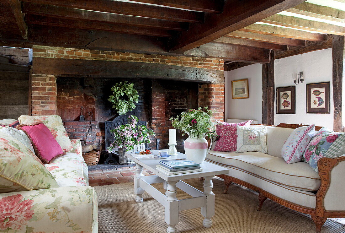
{"label": "plain bright pink cushion with fringed edge on the floral sofa", "polygon": [[32,146],[39,159],[44,164],[50,163],[52,159],[62,156],[64,153],[59,143],[55,140],[47,126],[38,125],[19,125],[32,142]]}

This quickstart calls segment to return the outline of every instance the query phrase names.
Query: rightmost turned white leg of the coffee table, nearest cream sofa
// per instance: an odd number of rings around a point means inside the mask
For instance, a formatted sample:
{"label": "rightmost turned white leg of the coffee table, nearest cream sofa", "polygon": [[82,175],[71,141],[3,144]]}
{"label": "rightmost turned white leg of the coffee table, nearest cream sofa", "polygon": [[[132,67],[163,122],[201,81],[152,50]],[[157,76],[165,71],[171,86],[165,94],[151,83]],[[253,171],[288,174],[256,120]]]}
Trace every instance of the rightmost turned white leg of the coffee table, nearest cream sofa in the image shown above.
{"label": "rightmost turned white leg of the coffee table, nearest cream sofa", "polygon": [[204,216],[203,225],[204,227],[211,227],[212,220],[211,217],[215,215],[215,195],[212,192],[213,183],[212,178],[214,176],[204,177],[204,207],[201,207],[201,214]]}

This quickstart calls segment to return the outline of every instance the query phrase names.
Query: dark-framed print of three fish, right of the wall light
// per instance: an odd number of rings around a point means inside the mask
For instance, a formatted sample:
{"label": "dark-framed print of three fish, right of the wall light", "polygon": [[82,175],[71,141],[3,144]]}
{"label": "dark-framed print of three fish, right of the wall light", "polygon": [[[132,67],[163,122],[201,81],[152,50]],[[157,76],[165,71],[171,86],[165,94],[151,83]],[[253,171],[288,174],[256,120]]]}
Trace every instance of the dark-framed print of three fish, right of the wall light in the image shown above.
{"label": "dark-framed print of three fish, right of the wall light", "polygon": [[306,84],[307,113],[331,113],[330,82]]}

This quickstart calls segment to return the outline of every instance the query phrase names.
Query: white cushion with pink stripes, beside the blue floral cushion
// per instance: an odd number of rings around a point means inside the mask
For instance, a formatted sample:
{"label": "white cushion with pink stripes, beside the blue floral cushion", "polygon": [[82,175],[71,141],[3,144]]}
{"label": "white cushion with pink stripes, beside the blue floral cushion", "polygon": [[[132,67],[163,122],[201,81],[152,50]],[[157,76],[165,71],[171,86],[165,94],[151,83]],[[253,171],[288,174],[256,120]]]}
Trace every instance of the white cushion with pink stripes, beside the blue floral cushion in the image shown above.
{"label": "white cushion with pink stripes, beside the blue floral cushion", "polygon": [[281,156],[288,164],[300,162],[305,149],[315,135],[315,125],[296,128],[286,139]]}

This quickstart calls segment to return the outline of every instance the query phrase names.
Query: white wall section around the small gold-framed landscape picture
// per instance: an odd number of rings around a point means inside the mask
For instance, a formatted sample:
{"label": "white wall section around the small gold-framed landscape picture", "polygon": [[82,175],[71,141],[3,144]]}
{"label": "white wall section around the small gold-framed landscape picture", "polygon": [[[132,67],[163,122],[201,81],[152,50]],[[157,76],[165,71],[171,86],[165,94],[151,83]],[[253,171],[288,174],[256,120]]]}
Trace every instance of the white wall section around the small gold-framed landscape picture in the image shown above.
{"label": "white wall section around the small gold-framed landscape picture", "polygon": [[[262,64],[253,64],[224,72],[225,117],[253,119],[262,123]],[[231,81],[248,78],[249,99],[232,99]]]}

